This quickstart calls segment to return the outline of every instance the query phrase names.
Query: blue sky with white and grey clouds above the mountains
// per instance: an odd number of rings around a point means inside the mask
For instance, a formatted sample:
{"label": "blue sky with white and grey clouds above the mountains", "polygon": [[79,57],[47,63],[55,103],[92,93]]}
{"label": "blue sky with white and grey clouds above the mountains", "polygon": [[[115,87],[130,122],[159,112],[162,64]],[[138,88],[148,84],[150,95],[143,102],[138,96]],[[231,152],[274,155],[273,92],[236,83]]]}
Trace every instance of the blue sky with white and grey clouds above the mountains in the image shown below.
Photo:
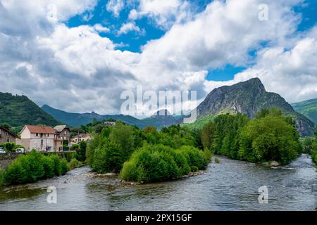
{"label": "blue sky with white and grey clouds above the mountains", "polygon": [[201,101],[259,77],[290,103],[317,98],[316,22],[315,0],[0,0],[0,91],[100,114],[140,84]]}

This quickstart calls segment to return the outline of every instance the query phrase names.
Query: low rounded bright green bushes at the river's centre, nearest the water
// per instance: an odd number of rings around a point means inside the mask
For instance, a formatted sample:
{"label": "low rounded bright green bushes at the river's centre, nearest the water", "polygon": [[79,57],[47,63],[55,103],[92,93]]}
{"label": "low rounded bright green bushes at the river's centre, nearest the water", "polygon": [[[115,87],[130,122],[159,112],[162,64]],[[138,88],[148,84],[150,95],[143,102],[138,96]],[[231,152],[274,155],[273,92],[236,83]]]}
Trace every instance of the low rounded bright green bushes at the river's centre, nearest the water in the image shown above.
{"label": "low rounded bright green bushes at the river's centre, nearest the water", "polygon": [[175,150],[163,145],[145,145],[125,162],[120,178],[138,182],[178,179],[190,171],[205,169],[207,163],[203,151],[192,146]]}

